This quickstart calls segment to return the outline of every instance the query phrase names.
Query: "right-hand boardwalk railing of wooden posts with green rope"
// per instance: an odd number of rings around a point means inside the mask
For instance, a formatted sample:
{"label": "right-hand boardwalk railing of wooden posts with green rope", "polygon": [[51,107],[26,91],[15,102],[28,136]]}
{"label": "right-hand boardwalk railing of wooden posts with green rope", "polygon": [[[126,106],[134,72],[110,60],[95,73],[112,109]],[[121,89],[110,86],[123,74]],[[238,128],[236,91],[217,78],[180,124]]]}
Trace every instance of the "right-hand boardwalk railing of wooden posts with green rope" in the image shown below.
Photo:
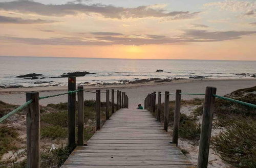
{"label": "right-hand boardwalk railing of wooden posts with green rope", "polygon": [[[200,134],[200,145],[199,145],[199,155],[198,155],[198,165],[197,167],[207,167],[208,164],[208,156],[209,156],[209,143],[210,143],[210,135],[211,135],[211,126],[212,126],[212,116],[215,105],[215,98],[220,98],[223,100],[231,101],[234,103],[238,103],[241,105],[245,105],[251,108],[256,108],[255,104],[247,103],[244,101],[231,99],[228,97],[223,97],[216,95],[216,88],[214,87],[206,87],[205,93],[182,93],[181,90],[176,90],[176,93],[165,93],[158,92],[158,105],[157,105],[157,120],[160,122],[160,113],[161,113],[161,95],[164,94],[164,130],[167,131],[168,125],[168,113],[169,110],[169,95],[176,95],[175,100],[175,113],[174,113],[174,129],[173,129],[173,142],[178,146],[178,132],[179,132],[179,121],[180,121],[180,106],[181,106],[181,95],[205,95],[204,98],[204,108],[203,108],[203,118],[202,118],[202,127]],[[148,94],[144,100],[145,109],[148,109],[152,112],[153,106],[156,105],[156,99],[154,99],[153,93]]]}

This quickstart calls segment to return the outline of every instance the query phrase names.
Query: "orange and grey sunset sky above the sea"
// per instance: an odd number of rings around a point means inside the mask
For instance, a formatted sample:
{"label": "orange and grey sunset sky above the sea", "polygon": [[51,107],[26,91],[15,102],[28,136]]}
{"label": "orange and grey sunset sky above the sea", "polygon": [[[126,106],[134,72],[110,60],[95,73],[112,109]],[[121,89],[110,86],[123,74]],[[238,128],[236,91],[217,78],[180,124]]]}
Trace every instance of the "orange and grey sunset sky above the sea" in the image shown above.
{"label": "orange and grey sunset sky above the sea", "polygon": [[0,55],[256,60],[255,0],[0,0]]}

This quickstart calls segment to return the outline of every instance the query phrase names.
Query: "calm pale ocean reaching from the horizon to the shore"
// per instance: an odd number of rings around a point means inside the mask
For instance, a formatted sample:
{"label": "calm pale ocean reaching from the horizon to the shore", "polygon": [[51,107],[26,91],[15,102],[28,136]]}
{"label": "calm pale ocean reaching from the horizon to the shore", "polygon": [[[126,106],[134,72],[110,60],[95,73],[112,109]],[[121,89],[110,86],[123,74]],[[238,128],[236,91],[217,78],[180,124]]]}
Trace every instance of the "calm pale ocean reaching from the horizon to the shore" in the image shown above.
{"label": "calm pale ocean reaching from the horizon to the shore", "polygon": [[[157,69],[163,72],[156,72]],[[256,61],[210,61],[210,60],[136,60],[136,59],[95,59],[95,58],[54,58],[54,57],[0,57],[0,86],[64,86],[67,78],[51,78],[63,73],[88,71],[77,77],[77,83],[89,82],[121,83],[120,80],[134,81],[146,78],[253,78]],[[17,78],[18,75],[39,73],[44,79]],[[243,75],[241,75],[243,74]],[[41,76],[40,76],[41,77]]]}

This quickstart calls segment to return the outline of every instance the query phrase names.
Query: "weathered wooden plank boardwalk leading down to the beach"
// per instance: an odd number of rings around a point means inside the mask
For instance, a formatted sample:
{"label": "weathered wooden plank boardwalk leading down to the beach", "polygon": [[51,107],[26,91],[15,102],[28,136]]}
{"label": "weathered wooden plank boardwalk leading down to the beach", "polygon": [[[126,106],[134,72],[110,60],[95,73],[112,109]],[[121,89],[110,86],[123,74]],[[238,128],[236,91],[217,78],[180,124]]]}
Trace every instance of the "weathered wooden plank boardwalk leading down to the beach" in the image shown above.
{"label": "weathered wooden plank boardwalk leading down to the beach", "polygon": [[147,110],[119,109],[62,167],[194,167],[171,139]]}

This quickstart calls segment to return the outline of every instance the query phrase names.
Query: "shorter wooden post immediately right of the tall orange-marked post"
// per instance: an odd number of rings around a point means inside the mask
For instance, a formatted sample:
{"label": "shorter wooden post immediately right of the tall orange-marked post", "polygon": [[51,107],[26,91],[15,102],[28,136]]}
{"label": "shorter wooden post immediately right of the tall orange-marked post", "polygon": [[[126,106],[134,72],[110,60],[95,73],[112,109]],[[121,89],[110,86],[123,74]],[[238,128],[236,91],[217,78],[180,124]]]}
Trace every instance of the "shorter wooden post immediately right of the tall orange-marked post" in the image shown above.
{"label": "shorter wooden post immediately right of the tall orange-marked post", "polygon": [[83,123],[84,123],[84,102],[83,102],[83,86],[78,86],[77,92],[77,145],[83,145]]}

